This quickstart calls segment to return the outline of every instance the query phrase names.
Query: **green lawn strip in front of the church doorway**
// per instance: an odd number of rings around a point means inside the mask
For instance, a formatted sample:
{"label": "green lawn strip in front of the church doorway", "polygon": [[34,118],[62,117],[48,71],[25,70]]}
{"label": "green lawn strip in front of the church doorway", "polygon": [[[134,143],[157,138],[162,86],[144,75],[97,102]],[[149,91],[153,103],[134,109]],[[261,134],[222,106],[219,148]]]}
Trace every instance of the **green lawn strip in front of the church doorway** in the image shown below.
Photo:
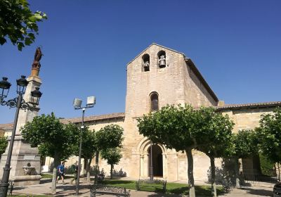
{"label": "green lawn strip in front of the church doorway", "polygon": [[[103,184],[107,184],[111,186],[120,186],[131,190],[136,189],[136,182],[134,181],[105,179],[103,180]],[[162,185],[142,184],[141,191],[162,192]],[[195,186],[195,192],[197,196],[211,196],[211,186]],[[167,183],[166,193],[188,195],[188,184]],[[218,195],[223,193],[222,186],[216,186],[216,193]]]}

